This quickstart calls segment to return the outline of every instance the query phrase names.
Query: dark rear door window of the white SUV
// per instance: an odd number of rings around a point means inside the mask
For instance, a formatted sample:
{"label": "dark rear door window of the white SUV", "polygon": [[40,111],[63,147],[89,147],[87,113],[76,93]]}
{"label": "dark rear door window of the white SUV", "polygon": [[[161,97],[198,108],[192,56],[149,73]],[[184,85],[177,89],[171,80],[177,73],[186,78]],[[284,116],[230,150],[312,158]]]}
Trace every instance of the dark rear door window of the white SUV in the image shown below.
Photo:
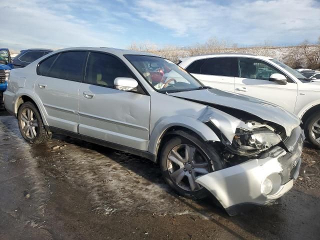
{"label": "dark rear door window of the white SUV", "polygon": [[200,74],[218,76],[237,76],[237,59],[235,57],[207,58],[200,67]]}

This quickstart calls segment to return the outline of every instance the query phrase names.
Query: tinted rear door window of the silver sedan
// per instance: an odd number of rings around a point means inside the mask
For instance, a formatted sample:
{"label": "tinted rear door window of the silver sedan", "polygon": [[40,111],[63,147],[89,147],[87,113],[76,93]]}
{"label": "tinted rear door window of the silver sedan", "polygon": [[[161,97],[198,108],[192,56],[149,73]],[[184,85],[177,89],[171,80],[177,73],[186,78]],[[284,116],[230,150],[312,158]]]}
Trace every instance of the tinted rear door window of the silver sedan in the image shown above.
{"label": "tinted rear door window of the silver sedan", "polygon": [[46,75],[66,80],[81,81],[85,55],[85,51],[60,53]]}

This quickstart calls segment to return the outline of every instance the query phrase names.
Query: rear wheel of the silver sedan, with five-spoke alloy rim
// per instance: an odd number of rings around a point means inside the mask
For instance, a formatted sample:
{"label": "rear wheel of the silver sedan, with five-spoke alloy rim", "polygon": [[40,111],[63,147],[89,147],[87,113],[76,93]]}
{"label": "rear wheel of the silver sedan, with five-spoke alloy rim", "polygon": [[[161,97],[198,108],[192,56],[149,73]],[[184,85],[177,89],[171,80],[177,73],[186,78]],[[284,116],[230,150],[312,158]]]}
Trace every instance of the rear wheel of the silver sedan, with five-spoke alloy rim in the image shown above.
{"label": "rear wheel of the silver sedan, with five-spoke alloy rim", "polygon": [[31,102],[23,103],[17,114],[22,137],[33,144],[44,143],[51,138],[51,133],[44,129],[41,115]]}

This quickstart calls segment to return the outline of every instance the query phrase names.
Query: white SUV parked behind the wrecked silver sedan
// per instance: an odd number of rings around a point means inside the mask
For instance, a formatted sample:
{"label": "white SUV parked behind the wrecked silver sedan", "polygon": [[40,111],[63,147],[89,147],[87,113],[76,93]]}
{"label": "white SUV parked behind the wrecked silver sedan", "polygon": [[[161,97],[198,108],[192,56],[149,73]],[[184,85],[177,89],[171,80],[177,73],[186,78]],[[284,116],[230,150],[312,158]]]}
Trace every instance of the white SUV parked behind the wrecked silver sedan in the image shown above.
{"label": "white SUV parked behind the wrecked silver sedan", "polygon": [[179,65],[207,86],[254,96],[301,118],[307,139],[320,147],[320,82],[266,56],[214,54],[180,59]]}

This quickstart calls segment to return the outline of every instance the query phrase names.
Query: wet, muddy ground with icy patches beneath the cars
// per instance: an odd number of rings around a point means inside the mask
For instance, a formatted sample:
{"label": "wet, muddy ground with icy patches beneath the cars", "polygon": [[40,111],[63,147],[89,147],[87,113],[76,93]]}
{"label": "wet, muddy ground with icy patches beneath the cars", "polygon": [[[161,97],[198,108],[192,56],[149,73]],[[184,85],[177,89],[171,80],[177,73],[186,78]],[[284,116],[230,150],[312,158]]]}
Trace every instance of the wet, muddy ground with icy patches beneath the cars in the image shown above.
{"label": "wet, muddy ground with icy patches beneath the cars", "polygon": [[146,159],[61,135],[31,146],[0,111],[0,239],[319,239],[320,151],[302,158],[278,204],[229,217]]}

